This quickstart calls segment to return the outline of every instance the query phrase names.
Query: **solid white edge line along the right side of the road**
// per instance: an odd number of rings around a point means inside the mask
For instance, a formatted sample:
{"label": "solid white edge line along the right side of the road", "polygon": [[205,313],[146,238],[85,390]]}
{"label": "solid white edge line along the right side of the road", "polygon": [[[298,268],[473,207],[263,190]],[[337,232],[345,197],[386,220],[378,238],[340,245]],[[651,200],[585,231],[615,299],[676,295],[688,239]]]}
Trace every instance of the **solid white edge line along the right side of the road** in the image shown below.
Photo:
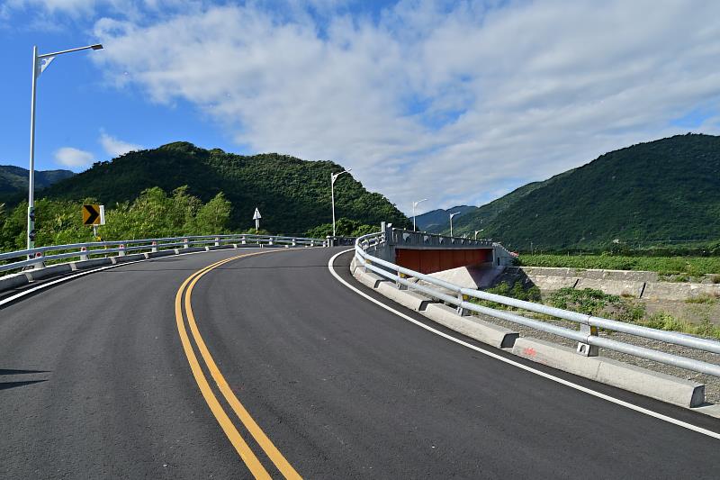
{"label": "solid white edge line along the right side of the road", "polygon": [[[583,393],[585,393],[585,394],[590,394],[590,395],[592,395],[592,396],[601,398],[602,400],[607,400],[608,402],[616,403],[616,404],[621,405],[621,406],[624,406],[624,407],[626,407],[626,408],[628,408],[628,409],[630,409],[630,410],[634,410],[635,412],[644,413],[645,415],[649,415],[649,416],[651,416],[651,417],[654,417],[654,418],[656,418],[656,419],[658,419],[658,420],[667,421],[667,422],[672,423],[672,424],[674,424],[674,425],[678,425],[679,427],[682,427],[682,428],[685,428],[685,429],[688,429],[688,430],[697,431],[698,433],[702,433],[703,435],[707,435],[708,437],[711,437],[711,438],[713,438],[713,439],[720,439],[720,433],[718,433],[718,432],[716,432],[716,431],[707,430],[707,429],[704,429],[704,428],[702,428],[702,427],[698,427],[697,425],[693,425],[693,424],[691,424],[691,423],[688,423],[688,422],[686,422],[686,421],[677,420],[677,419],[674,419],[674,418],[669,417],[669,416],[667,416],[667,415],[663,415],[662,413],[653,412],[652,410],[649,410],[649,409],[646,409],[646,408],[644,408],[644,407],[635,405],[635,404],[633,404],[633,403],[626,402],[626,401],[624,401],[624,400],[620,400],[619,398],[615,398],[615,397],[610,396],[610,395],[608,395],[608,394],[601,394],[600,392],[597,392],[597,391],[595,391],[595,390],[592,390],[592,389],[590,389],[590,388],[588,388],[588,387],[585,387],[585,386],[582,386],[582,385],[578,385],[578,384],[573,384],[572,382],[570,382],[570,381],[568,381],[568,380],[564,380],[563,378],[560,378],[560,377],[558,377],[558,376],[553,376],[553,375],[547,374],[547,373],[545,373],[545,372],[542,372],[542,371],[540,371],[540,370],[536,370],[536,369],[533,368],[533,367],[528,367],[527,365],[523,365],[523,364],[521,364],[521,363],[518,363],[518,362],[516,362],[516,361],[514,361],[514,360],[511,360],[511,359],[509,359],[509,358],[501,357],[500,355],[498,355],[498,354],[496,354],[496,353],[492,353],[491,351],[488,351],[488,350],[485,350],[485,349],[480,349],[480,348],[474,346],[474,345],[471,344],[471,343],[468,343],[468,342],[466,342],[466,341],[464,341],[464,340],[456,339],[456,338],[453,337],[452,335],[448,335],[447,333],[445,333],[445,332],[443,332],[443,331],[438,331],[438,330],[436,330],[436,329],[434,329],[434,328],[426,325],[426,324],[423,323],[423,322],[418,322],[417,320],[415,320],[414,318],[410,317],[409,315],[406,315],[406,314],[403,313],[403,312],[398,312],[397,310],[393,309],[391,306],[388,306],[388,305],[386,305],[385,303],[380,302],[379,300],[374,299],[372,296],[370,296],[370,295],[368,295],[368,294],[365,294],[365,292],[362,292],[361,290],[357,289],[355,286],[348,284],[347,281],[345,281],[341,276],[338,275],[338,272],[336,272],[336,271],[335,271],[335,268],[333,267],[333,263],[335,262],[335,259],[336,259],[336,258],[338,258],[340,255],[342,255],[342,254],[344,254],[344,253],[347,253],[348,251],[355,251],[355,249],[343,250],[343,251],[341,251],[341,252],[338,252],[338,253],[335,254],[332,258],[329,259],[328,268],[329,268],[330,273],[332,274],[332,276],[335,276],[335,278],[336,278],[341,284],[347,286],[347,288],[349,288],[350,290],[353,290],[356,294],[359,294],[359,295],[365,297],[367,300],[370,300],[371,302],[373,302],[373,303],[381,306],[382,308],[384,308],[385,310],[387,310],[387,311],[389,311],[389,312],[395,313],[396,315],[398,315],[398,316],[400,316],[401,318],[407,320],[408,322],[415,323],[416,325],[418,325],[419,327],[421,327],[421,328],[423,328],[423,329],[425,329],[425,330],[427,330],[427,331],[431,331],[431,332],[433,332],[433,333],[435,333],[435,334],[437,334],[437,335],[439,335],[439,336],[441,336],[441,337],[443,337],[443,338],[446,338],[447,340],[454,341],[455,343],[460,344],[460,345],[463,345],[464,347],[467,347],[468,349],[473,349],[473,350],[475,350],[475,351],[477,351],[477,352],[479,352],[479,353],[482,353],[482,355],[486,355],[486,356],[488,356],[488,357],[495,358],[495,359],[497,359],[497,360],[500,360],[501,362],[504,362],[504,363],[507,363],[507,364],[509,364],[509,365],[512,365],[513,367],[518,367],[518,368],[521,368],[521,369],[523,369],[523,370],[526,370],[527,372],[536,374],[537,376],[543,376],[543,377],[547,378],[548,380],[552,380],[552,381],[554,381],[554,382],[556,382],[556,383],[558,383],[558,384],[569,386],[569,387],[574,388],[575,390],[579,390],[579,391],[581,391],[581,392],[583,392]],[[359,267],[358,267],[358,268],[359,268]]]}

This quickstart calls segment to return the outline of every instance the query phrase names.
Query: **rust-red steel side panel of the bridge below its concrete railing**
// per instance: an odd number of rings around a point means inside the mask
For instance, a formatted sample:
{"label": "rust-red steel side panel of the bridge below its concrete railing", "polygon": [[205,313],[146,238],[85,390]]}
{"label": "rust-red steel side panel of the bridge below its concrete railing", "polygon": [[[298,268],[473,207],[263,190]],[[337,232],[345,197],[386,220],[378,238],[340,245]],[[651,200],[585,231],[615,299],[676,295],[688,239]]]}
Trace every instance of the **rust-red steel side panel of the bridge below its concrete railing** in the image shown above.
{"label": "rust-red steel side panel of the bridge below its concrete railing", "polygon": [[431,274],[491,261],[492,249],[395,249],[395,263]]}

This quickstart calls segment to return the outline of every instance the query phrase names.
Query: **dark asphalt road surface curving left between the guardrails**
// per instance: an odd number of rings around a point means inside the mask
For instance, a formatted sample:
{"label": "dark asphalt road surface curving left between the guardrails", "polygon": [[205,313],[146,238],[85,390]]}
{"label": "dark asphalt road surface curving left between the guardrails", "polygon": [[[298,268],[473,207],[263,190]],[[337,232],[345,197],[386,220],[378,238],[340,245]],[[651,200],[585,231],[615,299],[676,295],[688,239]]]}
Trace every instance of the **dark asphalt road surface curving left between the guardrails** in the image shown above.
{"label": "dark asphalt road surface curving left between the guardrails", "polygon": [[[159,258],[0,307],[0,478],[251,477],[256,470],[226,434],[233,429],[280,477],[275,454],[212,379],[199,340],[303,477],[720,474],[719,440],[425,331],[331,276],[328,260],[338,251],[239,258],[180,295],[196,271],[246,251]],[[348,279],[349,259],[336,263]],[[720,430],[715,419],[563,377]]]}

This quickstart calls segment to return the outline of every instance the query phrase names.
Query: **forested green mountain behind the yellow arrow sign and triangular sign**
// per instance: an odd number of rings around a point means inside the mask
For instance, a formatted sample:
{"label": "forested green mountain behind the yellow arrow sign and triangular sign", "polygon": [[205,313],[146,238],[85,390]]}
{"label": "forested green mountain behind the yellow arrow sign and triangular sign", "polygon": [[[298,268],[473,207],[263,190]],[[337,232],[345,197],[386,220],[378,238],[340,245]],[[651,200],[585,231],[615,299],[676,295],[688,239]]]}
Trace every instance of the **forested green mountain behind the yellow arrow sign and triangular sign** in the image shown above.
{"label": "forested green mountain behind the yellow arrow sign and triangular sign", "polygon": [[[275,153],[234,155],[178,141],[95,163],[85,172],[50,186],[42,195],[70,200],[91,197],[112,207],[135,199],[149,187],[171,192],[186,185],[188,194],[203,202],[223,192],[232,203],[232,229],[254,226],[257,207],[263,229],[297,235],[332,221],[330,173],[344,169],[330,161],[306,161]],[[382,221],[409,225],[405,215],[383,195],[368,192],[349,175],[339,177],[335,184],[335,205],[338,218],[378,227]]]}

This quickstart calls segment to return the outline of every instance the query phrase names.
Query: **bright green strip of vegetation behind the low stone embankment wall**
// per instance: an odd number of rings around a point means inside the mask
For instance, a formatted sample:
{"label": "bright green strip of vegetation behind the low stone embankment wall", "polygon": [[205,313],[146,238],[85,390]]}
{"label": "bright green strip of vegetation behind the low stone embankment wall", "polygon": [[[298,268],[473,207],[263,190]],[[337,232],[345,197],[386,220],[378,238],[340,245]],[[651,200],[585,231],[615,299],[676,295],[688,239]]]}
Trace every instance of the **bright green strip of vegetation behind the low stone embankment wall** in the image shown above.
{"label": "bright green strip of vegetation behind the low stone embankment wall", "polygon": [[[718,257],[627,257],[621,255],[522,255],[519,265],[527,267],[599,268],[607,270],[644,270],[662,276],[675,276],[675,281],[687,281],[689,276],[720,274]],[[713,276],[720,283],[720,275]]]}

